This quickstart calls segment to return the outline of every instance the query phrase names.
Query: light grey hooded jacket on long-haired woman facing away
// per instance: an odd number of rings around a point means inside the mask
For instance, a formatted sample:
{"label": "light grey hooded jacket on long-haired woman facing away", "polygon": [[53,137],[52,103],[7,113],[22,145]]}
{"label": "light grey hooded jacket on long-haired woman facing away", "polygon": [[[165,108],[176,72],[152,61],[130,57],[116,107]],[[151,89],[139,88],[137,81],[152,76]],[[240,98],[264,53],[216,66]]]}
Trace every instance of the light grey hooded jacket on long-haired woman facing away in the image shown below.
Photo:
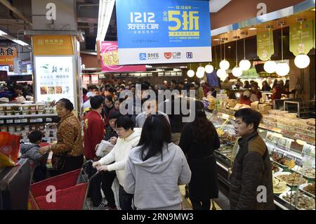
{"label": "light grey hooded jacket on long-haired woman facing away", "polygon": [[166,144],[161,154],[143,161],[140,147],[129,153],[124,190],[134,195],[137,209],[180,209],[178,185],[190,182],[191,171],[178,145]]}

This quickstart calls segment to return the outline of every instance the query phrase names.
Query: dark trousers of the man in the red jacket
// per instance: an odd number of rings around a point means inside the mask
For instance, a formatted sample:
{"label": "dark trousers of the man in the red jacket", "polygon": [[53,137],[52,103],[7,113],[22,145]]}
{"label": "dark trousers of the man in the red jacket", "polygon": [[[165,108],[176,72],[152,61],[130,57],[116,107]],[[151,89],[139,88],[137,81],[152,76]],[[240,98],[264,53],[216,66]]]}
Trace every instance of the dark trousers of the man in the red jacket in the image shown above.
{"label": "dark trousers of the man in the red jacket", "polygon": [[[97,170],[93,168],[92,164],[88,164],[86,172],[88,173],[88,178],[91,178],[91,176],[93,176],[93,174],[95,174]],[[98,176],[95,176],[91,180],[89,185],[88,195],[91,197],[91,202],[94,207],[99,206],[102,202],[101,181],[102,175],[98,174]]]}

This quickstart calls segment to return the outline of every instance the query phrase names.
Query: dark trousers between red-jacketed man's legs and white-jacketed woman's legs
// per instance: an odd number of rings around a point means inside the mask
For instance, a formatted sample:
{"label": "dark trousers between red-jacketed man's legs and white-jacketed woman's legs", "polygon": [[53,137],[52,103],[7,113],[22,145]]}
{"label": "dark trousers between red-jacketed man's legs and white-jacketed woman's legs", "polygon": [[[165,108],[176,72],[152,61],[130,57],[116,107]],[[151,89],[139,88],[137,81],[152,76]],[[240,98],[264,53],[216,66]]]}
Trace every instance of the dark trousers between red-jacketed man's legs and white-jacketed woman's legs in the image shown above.
{"label": "dark trousers between red-jacketed man's legs and white-jacketed woman's legs", "polygon": [[112,184],[116,176],[117,173],[115,173],[115,171],[103,172],[102,176],[102,190],[105,195],[105,199],[107,199],[107,205],[110,207],[116,206],[114,192],[112,190]]}

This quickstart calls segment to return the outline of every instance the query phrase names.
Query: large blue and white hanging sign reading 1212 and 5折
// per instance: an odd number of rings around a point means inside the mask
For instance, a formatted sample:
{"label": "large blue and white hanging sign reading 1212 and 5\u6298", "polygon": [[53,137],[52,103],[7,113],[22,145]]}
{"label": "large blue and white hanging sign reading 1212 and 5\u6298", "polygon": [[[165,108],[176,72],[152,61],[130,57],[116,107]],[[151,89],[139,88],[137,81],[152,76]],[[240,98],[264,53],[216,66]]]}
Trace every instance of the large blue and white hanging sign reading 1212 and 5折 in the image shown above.
{"label": "large blue and white hanging sign reading 1212 and 5\u6298", "polygon": [[117,0],[119,65],[211,61],[209,1]]}

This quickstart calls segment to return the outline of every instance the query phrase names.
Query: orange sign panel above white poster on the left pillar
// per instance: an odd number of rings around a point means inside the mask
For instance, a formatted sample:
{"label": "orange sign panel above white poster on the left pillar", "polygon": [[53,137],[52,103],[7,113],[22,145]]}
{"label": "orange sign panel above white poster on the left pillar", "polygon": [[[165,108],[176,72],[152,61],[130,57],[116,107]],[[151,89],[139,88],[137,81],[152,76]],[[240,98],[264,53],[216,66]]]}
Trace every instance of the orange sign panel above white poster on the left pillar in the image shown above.
{"label": "orange sign panel above white poster on the left pillar", "polygon": [[34,35],[34,55],[73,55],[74,45],[69,35]]}

